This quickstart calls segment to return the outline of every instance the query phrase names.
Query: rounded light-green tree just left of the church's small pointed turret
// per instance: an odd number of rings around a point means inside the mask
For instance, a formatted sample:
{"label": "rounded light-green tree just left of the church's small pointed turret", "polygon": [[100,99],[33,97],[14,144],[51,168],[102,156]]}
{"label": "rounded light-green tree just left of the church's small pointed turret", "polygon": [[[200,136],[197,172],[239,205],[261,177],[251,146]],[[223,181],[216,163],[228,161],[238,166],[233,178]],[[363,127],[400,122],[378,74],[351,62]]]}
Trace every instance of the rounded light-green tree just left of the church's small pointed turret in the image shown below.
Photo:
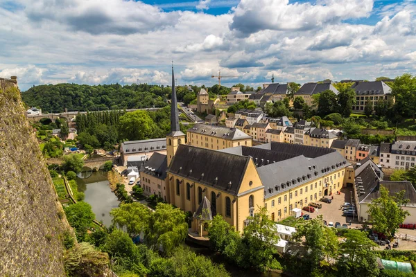
{"label": "rounded light-green tree just left of the church's small pointed turret", "polygon": [[151,213],[148,226],[144,230],[145,242],[150,249],[163,247],[167,255],[173,253],[188,234],[186,215],[180,208],[171,204],[158,203],[156,211]]}

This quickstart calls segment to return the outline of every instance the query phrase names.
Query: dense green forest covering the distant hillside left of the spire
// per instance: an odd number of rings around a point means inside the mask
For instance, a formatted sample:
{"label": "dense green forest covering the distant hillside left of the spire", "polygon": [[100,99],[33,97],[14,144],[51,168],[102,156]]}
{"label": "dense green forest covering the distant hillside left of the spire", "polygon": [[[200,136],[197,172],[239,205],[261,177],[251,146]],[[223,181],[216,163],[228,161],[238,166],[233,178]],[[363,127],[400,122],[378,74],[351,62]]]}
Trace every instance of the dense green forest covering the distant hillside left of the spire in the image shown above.
{"label": "dense green forest covering the distant hillside left of the spire", "polygon": [[43,113],[164,107],[170,96],[171,87],[153,84],[44,84],[21,93],[28,106]]}

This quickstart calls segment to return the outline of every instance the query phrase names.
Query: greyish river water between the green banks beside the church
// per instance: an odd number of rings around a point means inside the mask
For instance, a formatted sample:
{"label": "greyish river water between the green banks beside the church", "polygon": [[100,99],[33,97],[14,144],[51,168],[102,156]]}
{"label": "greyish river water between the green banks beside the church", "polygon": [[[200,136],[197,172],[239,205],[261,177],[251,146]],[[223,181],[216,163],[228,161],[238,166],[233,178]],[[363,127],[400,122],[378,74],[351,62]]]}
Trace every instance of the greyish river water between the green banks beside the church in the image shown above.
{"label": "greyish river water between the green banks beside the church", "polygon": [[86,179],[77,178],[78,191],[85,193],[84,201],[92,206],[96,220],[103,221],[107,227],[111,224],[110,211],[120,204],[111,191],[105,172],[92,172]]}

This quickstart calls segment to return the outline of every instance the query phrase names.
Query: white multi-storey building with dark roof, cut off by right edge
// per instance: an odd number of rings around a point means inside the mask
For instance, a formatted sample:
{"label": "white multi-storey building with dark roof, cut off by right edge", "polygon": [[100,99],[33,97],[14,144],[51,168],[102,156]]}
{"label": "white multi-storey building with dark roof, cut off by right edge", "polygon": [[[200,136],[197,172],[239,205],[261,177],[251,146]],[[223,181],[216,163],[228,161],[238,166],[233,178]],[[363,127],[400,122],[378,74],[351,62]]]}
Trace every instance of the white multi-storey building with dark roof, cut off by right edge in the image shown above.
{"label": "white multi-storey building with dark roof, cut off by right edge", "polygon": [[416,165],[416,141],[381,143],[380,165],[404,170],[412,168]]}

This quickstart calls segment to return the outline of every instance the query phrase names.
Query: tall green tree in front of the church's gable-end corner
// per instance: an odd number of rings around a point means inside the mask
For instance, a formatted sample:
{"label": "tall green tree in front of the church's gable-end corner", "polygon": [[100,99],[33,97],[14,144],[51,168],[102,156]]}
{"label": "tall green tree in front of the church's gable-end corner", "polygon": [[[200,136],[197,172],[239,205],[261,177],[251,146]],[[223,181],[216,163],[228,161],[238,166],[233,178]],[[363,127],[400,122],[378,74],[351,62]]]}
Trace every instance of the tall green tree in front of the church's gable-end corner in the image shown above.
{"label": "tall green tree in front of the church's gable-end corner", "polygon": [[245,260],[258,271],[264,271],[274,260],[277,252],[275,244],[279,241],[275,222],[270,220],[266,208],[259,208],[254,216],[248,217],[245,226],[242,244],[245,245]]}

